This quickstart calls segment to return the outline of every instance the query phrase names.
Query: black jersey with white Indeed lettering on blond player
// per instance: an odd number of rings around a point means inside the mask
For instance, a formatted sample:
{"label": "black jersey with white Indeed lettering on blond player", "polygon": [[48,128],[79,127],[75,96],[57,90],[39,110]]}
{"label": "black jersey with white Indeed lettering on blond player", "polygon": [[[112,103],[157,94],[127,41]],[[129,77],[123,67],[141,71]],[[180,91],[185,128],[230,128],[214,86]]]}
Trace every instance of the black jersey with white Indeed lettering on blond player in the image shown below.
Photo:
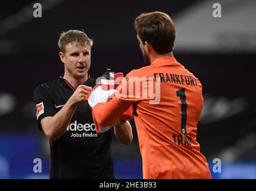
{"label": "black jersey with white Indeed lettering on blond player", "polygon": [[[84,85],[93,88],[96,81],[89,78]],[[41,120],[62,109],[74,91],[62,76],[36,88],[34,101],[40,130]],[[111,131],[96,134],[89,104],[78,104],[67,131],[50,141],[50,178],[115,178],[110,145]]]}

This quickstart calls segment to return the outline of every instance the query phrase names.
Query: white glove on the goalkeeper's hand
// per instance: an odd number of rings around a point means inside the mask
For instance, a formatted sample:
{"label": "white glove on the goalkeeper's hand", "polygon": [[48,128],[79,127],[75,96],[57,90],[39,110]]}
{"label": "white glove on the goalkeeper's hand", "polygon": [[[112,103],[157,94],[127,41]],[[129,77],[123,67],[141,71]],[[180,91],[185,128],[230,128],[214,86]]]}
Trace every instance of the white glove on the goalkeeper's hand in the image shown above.
{"label": "white glove on the goalkeeper's hand", "polygon": [[95,88],[90,94],[88,103],[92,108],[95,107],[97,103],[105,104],[110,98],[114,97],[115,91],[114,89],[105,91],[102,89],[101,85],[99,85],[99,87]]}

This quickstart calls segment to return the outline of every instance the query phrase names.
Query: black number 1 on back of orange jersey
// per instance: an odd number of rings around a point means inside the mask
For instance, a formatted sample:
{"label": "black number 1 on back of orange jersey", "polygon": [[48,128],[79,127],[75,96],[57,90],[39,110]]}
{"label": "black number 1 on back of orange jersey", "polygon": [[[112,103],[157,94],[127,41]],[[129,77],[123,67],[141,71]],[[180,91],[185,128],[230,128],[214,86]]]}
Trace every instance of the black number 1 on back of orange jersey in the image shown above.
{"label": "black number 1 on back of orange jersey", "polygon": [[186,101],[186,94],[185,88],[176,91],[177,97],[181,100],[181,133],[186,134],[186,123],[187,123],[187,101]]}

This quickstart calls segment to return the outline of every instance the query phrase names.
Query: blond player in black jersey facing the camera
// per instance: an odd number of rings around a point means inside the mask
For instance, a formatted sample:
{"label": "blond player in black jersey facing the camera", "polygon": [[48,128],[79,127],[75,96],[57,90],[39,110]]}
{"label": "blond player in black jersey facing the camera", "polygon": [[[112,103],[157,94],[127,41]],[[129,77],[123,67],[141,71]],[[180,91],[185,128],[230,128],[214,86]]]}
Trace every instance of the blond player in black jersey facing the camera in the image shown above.
{"label": "blond player in black jersey facing the camera", "polygon": [[[34,93],[39,129],[50,140],[50,178],[115,178],[111,131],[96,134],[86,95],[96,85],[90,78],[93,41],[79,30],[59,38],[63,76],[39,85]],[[132,141],[129,121],[114,127],[121,143]]]}

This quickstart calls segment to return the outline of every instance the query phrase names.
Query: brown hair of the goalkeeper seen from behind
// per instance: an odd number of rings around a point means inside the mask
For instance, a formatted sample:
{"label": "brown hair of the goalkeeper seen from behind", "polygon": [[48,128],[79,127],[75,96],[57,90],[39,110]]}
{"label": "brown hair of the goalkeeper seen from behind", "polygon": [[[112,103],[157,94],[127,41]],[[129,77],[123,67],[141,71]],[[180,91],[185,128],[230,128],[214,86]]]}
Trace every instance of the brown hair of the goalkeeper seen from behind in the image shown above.
{"label": "brown hair of the goalkeeper seen from behind", "polygon": [[157,53],[166,54],[173,51],[176,29],[166,13],[142,13],[135,19],[134,27],[143,44],[147,41]]}

